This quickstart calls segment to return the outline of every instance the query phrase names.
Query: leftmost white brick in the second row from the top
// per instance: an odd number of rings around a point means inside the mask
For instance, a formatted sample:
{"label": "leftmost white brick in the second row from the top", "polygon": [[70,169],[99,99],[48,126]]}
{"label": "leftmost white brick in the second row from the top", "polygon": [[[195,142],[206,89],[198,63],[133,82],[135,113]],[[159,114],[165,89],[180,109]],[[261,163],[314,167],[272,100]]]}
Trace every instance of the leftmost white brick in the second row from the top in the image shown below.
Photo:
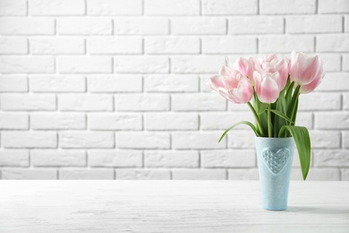
{"label": "leftmost white brick in the second row from the top", "polygon": [[0,19],[2,35],[54,35],[55,20],[52,18],[3,17]]}

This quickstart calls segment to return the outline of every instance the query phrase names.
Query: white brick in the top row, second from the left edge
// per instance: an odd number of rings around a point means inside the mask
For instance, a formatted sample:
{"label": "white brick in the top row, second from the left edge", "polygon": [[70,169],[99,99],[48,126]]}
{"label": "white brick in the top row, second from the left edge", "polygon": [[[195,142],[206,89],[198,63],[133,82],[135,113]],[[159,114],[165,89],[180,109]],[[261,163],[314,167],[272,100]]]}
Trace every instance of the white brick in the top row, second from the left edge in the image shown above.
{"label": "white brick in the top row, second from the left edge", "polygon": [[83,15],[84,0],[30,0],[30,15]]}

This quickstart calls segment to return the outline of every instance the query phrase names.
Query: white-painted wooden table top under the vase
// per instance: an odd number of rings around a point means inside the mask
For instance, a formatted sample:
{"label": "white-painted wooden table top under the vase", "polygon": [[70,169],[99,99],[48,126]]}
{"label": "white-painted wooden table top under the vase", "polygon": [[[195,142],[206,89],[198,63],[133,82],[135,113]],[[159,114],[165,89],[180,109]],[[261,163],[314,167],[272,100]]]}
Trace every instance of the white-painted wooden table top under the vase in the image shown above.
{"label": "white-painted wooden table top under the vase", "polygon": [[349,232],[349,182],[291,181],[287,211],[258,181],[0,181],[0,232]]}

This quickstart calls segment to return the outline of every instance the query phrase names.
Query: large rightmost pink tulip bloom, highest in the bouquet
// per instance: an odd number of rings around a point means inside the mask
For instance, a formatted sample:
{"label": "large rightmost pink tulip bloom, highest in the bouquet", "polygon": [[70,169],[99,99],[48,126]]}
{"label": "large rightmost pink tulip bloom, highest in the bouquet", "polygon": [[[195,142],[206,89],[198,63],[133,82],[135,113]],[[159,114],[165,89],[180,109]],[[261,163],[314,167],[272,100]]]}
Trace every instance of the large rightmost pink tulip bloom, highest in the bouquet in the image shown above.
{"label": "large rightmost pink tulip bloom, highest in the bouquet", "polygon": [[296,52],[291,54],[288,72],[290,73],[291,81],[301,86],[307,85],[301,88],[304,91],[302,93],[313,91],[323,76],[322,63],[319,60],[319,56],[309,56]]}

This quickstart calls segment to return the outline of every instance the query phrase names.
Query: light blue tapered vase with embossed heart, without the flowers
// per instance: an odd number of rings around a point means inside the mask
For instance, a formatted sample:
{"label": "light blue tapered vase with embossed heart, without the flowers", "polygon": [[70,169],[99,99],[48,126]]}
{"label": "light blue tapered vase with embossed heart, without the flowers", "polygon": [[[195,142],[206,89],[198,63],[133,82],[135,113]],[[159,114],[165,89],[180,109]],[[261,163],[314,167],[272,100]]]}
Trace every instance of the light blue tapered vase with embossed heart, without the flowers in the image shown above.
{"label": "light blue tapered vase with embossed heart, without the flowers", "polygon": [[263,208],[285,211],[294,161],[294,138],[256,137],[255,142]]}

